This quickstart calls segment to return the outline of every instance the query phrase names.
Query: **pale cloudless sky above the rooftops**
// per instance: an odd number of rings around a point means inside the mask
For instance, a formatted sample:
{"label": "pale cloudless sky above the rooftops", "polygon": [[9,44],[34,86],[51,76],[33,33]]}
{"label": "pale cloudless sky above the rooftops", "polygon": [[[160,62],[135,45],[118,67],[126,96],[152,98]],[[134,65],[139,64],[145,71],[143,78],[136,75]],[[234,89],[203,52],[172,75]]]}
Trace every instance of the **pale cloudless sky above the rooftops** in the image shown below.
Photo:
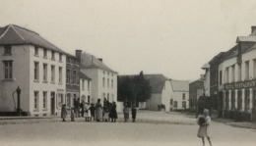
{"label": "pale cloudless sky above the rooftops", "polygon": [[18,24],[62,50],[102,58],[119,74],[196,80],[201,67],[256,25],[255,0],[0,0]]}

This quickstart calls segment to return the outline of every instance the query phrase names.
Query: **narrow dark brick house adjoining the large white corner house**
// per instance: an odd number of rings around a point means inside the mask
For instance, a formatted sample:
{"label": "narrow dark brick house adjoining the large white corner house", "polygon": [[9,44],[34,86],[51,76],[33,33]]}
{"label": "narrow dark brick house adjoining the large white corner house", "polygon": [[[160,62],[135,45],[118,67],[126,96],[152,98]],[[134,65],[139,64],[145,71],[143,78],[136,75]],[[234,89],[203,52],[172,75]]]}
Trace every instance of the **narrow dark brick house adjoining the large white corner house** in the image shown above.
{"label": "narrow dark brick house adjoining the large white corner house", "polygon": [[80,101],[80,63],[73,55],[67,55],[66,61],[66,105],[74,107],[74,101]]}

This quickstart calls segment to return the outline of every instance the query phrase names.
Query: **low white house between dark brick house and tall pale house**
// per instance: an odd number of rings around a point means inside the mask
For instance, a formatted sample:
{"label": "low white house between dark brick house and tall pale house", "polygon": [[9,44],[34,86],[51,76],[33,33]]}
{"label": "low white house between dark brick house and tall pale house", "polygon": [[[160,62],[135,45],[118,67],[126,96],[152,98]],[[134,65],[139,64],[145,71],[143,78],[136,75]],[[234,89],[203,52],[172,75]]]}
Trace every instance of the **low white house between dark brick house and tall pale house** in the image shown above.
{"label": "low white house between dark brick house and tall pale house", "polygon": [[91,103],[92,79],[85,73],[80,73],[80,97],[81,102]]}

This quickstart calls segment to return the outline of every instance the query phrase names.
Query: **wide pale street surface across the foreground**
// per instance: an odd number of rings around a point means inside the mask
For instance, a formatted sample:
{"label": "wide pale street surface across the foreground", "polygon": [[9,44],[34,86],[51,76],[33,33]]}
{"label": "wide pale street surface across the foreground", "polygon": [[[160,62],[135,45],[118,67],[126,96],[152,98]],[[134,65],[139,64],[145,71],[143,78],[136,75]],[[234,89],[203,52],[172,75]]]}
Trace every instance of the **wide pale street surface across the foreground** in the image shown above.
{"label": "wide pale street surface across the foreground", "polygon": [[[1,145],[173,145],[200,146],[198,125],[192,117],[177,113],[143,111],[138,121],[60,122],[60,119],[1,120]],[[215,146],[255,145],[256,130],[212,122]]]}

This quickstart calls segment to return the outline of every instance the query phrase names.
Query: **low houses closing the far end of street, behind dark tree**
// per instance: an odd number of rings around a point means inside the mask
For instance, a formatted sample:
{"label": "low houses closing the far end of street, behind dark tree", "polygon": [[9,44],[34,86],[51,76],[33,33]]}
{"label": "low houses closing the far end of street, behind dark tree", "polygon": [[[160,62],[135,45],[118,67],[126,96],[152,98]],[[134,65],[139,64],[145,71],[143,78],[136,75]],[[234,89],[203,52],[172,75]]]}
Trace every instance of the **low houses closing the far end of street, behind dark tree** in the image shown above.
{"label": "low houses closing the far end of street, behind dark tree", "polygon": [[[134,75],[119,75],[127,77]],[[172,80],[163,74],[145,74],[145,79],[149,80],[152,87],[151,98],[139,103],[140,109],[159,111],[160,106],[164,111],[180,111],[189,109],[189,81]]]}

